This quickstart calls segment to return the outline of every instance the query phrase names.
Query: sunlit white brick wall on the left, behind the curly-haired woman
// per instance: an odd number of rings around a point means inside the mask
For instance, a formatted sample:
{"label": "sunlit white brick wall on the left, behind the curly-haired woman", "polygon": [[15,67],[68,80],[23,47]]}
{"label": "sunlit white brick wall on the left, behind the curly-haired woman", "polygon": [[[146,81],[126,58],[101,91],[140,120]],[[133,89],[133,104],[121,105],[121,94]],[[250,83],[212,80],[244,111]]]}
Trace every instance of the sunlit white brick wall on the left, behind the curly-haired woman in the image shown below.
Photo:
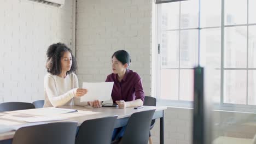
{"label": "sunlit white brick wall on the left, behind the curly-haired woman", "polygon": [[71,46],[73,0],[62,8],[28,0],[1,0],[0,103],[43,99],[46,49]]}

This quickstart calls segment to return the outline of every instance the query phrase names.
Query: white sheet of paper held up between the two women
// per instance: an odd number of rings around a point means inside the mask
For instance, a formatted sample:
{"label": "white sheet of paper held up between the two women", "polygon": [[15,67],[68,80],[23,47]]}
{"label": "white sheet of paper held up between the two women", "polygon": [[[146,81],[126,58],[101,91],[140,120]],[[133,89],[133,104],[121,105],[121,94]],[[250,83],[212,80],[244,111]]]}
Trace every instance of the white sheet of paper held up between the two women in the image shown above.
{"label": "white sheet of paper held up between the two women", "polygon": [[114,82],[84,82],[83,88],[88,92],[80,98],[81,102],[94,100],[110,100]]}

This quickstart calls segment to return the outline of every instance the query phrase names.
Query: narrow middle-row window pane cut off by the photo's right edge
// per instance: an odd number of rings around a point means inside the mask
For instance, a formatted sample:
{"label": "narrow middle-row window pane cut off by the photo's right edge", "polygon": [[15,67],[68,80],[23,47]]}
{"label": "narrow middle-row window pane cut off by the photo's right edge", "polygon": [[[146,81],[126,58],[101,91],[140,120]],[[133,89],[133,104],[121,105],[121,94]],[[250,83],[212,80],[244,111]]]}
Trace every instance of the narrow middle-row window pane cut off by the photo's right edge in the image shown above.
{"label": "narrow middle-row window pane cut off by the photo's right edge", "polygon": [[256,68],[256,26],[249,26],[249,68]]}

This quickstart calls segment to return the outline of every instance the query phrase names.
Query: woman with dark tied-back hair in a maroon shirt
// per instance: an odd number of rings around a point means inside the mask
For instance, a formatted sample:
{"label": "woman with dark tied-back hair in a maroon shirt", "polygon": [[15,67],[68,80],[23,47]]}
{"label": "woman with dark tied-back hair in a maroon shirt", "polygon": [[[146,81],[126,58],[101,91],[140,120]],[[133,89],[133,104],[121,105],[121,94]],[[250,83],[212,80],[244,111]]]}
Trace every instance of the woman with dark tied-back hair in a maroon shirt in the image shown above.
{"label": "woman with dark tied-back hair in a maroon shirt", "polygon": [[[127,51],[119,50],[114,52],[112,55],[113,73],[108,75],[106,79],[106,82],[114,82],[111,94],[112,101],[117,103],[121,109],[142,106],[144,102],[141,77],[136,72],[128,69],[130,64],[131,58]],[[98,107],[101,104],[95,106]],[[125,128],[114,129],[112,141],[119,141],[124,135]]]}

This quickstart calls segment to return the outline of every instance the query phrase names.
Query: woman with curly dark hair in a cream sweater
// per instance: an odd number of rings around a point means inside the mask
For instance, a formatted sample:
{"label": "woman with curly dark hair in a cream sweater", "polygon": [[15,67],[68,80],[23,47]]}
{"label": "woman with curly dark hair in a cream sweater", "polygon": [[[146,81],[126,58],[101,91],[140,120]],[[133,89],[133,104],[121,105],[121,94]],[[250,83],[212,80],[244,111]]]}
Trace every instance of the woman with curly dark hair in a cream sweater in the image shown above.
{"label": "woman with curly dark hair in a cream sweater", "polygon": [[87,89],[78,88],[77,75],[74,74],[77,62],[71,49],[62,43],[52,44],[46,55],[48,73],[44,76],[44,107],[98,103],[80,102],[80,97],[87,93]]}

